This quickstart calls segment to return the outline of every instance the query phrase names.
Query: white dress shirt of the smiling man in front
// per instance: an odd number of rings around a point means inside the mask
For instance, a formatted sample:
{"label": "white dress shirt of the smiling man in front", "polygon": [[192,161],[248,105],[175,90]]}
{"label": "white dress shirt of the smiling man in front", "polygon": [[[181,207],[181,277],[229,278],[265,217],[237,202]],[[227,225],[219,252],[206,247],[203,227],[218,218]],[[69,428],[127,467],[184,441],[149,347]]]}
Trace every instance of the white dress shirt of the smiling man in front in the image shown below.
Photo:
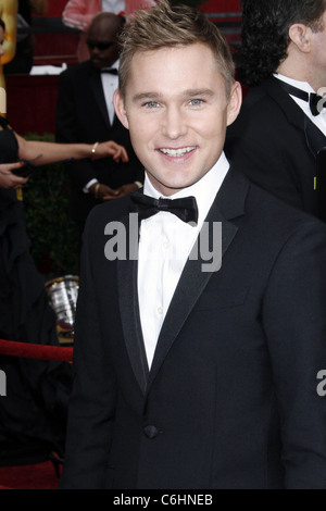
{"label": "white dress shirt of the smiling man in front", "polygon": [[[140,226],[138,298],[140,322],[149,367],[170,302],[201,226],[227,174],[229,163],[222,153],[217,163],[198,183],[174,194],[171,199],[196,197],[199,220],[196,227],[173,213],[160,212]],[[143,194],[162,195],[145,177]]]}

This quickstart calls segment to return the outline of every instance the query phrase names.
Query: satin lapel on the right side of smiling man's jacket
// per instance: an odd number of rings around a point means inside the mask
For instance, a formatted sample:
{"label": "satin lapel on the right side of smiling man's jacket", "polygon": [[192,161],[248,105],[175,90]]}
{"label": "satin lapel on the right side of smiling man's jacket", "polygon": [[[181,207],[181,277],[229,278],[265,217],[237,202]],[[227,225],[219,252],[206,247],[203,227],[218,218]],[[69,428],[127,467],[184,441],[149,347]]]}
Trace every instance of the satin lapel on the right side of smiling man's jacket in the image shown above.
{"label": "satin lapel on the right side of smiling man's jacket", "polygon": [[[238,179],[237,177],[235,178],[235,176],[236,175],[234,173],[230,173],[230,175],[225,179],[225,184],[217,194],[217,197],[205,221],[206,224],[210,226],[210,247],[213,246],[213,223],[222,222],[222,258],[225,256],[228,247],[230,246],[234,237],[237,234],[238,228],[231,222],[226,220],[224,214],[221,212],[220,205],[223,205],[224,198],[226,198],[227,200],[228,197],[229,201],[235,204],[235,210],[231,211],[231,204],[227,203],[226,209],[229,210],[227,214],[229,214],[230,217],[235,217],[239,214],[242,214],[244,196],[247,195],[249,186],[248,180],[246,178],[243,179],[242,176],[240,176]],[[234,188],[233,182],[237,180],[239,188]],[[241,183],[243,183],[243,187],[241,187]],[[234,195],[231,190],[234,191]],[[238,196],[239,202],[237,202]],[[214,274],[214,272],[202,271],[202,265],[205,264],[206,261],[201,259],[200,250],[198,250],[198,256],[199,257],[197,260],[189,259],[187,261],[184,272],[180,276],[178,286],[172,299],[171,306],[166,313],[161,335],[158,340],[158,346],[149,375],[147,391],[150,389],[150,386],[154,381],[162,363],[164,362],[165,357],[167,356],[177,335],[179,334],[189,314],[191,313],[196,302],[200,298],[205,286]],[[221,261],[217,262],[217,265],[218,263],[221,263]]]}

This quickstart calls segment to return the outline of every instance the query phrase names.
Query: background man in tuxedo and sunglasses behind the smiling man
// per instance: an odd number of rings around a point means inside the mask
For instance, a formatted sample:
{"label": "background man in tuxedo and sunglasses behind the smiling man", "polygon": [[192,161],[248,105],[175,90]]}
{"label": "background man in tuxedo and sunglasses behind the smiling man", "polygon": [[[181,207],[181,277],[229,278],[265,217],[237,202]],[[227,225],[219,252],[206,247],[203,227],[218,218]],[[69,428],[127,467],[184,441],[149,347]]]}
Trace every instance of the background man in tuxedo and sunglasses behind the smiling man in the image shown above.
{"label": "background man in tuxedo and sunglasses behind the smiling man", "polygon": [[117,38],[124,23],[124,17],[112,13],[97,15],[87,39],[90,60],[60,76],[57,141],[114,140],[124,147],[124,158],[117,162],[108,158],[68,163],[71,214],[80,233],[93,205],[123,197],[143,180],[143,170],[131,148],[128,130],[115,116],[113,107],[118,80]]}

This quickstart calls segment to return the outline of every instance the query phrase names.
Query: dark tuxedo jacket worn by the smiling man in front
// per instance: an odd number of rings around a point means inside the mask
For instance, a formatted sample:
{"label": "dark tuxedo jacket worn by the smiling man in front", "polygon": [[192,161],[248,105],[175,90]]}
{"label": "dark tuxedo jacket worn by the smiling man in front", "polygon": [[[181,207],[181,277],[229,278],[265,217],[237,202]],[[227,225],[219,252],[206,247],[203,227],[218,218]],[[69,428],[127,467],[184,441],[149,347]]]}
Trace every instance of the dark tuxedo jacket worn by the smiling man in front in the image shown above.
{"label": "dark tuxedo jacket worn by the smiling man in front", "polygon": [[129,201],[87,221],[61,488],[326,488],[325,225],[229,171],[222,269],[186,263],[149,371]]}

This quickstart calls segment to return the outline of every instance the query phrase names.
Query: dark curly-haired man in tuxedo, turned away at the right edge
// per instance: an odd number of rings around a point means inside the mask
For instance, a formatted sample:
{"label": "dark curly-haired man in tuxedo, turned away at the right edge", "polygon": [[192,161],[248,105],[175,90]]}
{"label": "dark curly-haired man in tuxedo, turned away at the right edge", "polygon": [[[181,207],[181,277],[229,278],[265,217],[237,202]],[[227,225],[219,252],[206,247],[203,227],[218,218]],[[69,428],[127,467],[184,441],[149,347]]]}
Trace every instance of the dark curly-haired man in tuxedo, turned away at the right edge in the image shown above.
{"label": "dark curly-haired man in tuxedo, turned away at the right edge", "polygon": [[326,91],[325,10],[324,0],[242,1],[236,64],[251,89],[225,146],[254,183],[315,215],[326,110],[321,98],[313,100]]}

